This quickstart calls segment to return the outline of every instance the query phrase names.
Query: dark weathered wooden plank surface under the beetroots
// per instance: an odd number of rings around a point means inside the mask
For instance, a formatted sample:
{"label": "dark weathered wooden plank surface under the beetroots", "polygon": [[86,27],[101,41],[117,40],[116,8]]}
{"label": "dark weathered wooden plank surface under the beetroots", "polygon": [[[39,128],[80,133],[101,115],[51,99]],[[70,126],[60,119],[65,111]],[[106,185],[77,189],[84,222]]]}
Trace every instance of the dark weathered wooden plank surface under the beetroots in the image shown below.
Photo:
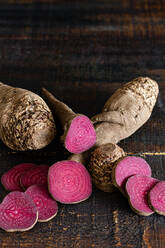
{"label": "dark weathered wooden plank surface under the beetroots", "polygon": [[[164,20],[163,0],[1,0],[0,80],[39,94],[44,86],[89,116],[122,83],[137,76],[157,80],[160,95],[150,120],[120,146],[147,152],[153,176],[165,179]],[[51,165],[67,156],[55,142],[33,152],[0,143],[0,173],[20,162]],[[5,195],[0,187],[1,200]],[[23,233],[0,230],[0,247],[164,248],[165,217],[138,216],[120,193],[93,188],[83,203],[59,204],[48,223]]]}

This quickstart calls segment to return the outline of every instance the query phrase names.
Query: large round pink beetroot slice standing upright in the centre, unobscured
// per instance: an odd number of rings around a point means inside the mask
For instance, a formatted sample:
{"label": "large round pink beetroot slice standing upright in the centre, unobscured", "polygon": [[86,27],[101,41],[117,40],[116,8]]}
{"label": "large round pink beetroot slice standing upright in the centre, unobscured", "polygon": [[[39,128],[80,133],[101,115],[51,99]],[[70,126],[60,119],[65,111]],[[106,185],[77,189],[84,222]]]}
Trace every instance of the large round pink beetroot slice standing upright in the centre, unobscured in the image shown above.
{"label": "large round pink beetroot slice standing upright in the centre, unobscured", "polygon": [[92,193],[87,169],[71,160],[57,162],[49,168],[48,187],[55,200],[66,204],[84,201]]}

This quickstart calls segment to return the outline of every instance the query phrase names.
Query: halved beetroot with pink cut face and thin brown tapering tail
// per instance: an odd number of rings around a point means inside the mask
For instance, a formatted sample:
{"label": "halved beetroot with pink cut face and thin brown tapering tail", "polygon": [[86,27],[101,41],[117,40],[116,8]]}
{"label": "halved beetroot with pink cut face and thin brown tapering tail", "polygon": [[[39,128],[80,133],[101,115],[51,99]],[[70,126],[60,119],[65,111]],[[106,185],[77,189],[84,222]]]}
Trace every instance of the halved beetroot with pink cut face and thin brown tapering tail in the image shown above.
{"label": "halved beetroot with pink cut face and thin brown tapering tail", "polygon": [[64,130],[61,141],[71,153],[81,153],[96,143],[96,133],[91,120],[82,114],[76,114],[66,104],[59,101],[48,90],[42,89],[49,107]]}

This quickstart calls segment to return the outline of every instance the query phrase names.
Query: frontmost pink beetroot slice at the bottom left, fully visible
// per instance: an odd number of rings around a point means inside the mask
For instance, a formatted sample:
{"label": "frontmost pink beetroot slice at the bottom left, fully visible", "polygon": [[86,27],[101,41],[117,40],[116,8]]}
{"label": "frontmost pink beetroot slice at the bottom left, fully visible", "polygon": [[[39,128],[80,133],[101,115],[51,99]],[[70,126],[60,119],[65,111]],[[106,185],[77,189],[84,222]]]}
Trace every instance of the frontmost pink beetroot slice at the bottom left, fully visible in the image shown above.
{"label": "frontmost pink beetroot slice at the bottom left, fully visible", "polygon": [[37,219],[34,202],[23,192],[10,192],[0,204],[0,228],[7,232],[27,231],[36,224]]}

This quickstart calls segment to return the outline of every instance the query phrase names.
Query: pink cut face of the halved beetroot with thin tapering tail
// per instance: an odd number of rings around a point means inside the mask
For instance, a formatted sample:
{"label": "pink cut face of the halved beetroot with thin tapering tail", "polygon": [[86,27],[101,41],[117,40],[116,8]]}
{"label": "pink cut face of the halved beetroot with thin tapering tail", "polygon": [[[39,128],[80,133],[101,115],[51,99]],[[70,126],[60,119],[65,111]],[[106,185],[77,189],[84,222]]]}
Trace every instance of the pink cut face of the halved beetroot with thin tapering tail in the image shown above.
{"label": "pink cut face of the halved beetroot with thin tapering tail", "polygon": [[81,153],[96,143],[95,129],[90,119],[84,115],[75,117],[65,139],[65,148],[71,153]]}

